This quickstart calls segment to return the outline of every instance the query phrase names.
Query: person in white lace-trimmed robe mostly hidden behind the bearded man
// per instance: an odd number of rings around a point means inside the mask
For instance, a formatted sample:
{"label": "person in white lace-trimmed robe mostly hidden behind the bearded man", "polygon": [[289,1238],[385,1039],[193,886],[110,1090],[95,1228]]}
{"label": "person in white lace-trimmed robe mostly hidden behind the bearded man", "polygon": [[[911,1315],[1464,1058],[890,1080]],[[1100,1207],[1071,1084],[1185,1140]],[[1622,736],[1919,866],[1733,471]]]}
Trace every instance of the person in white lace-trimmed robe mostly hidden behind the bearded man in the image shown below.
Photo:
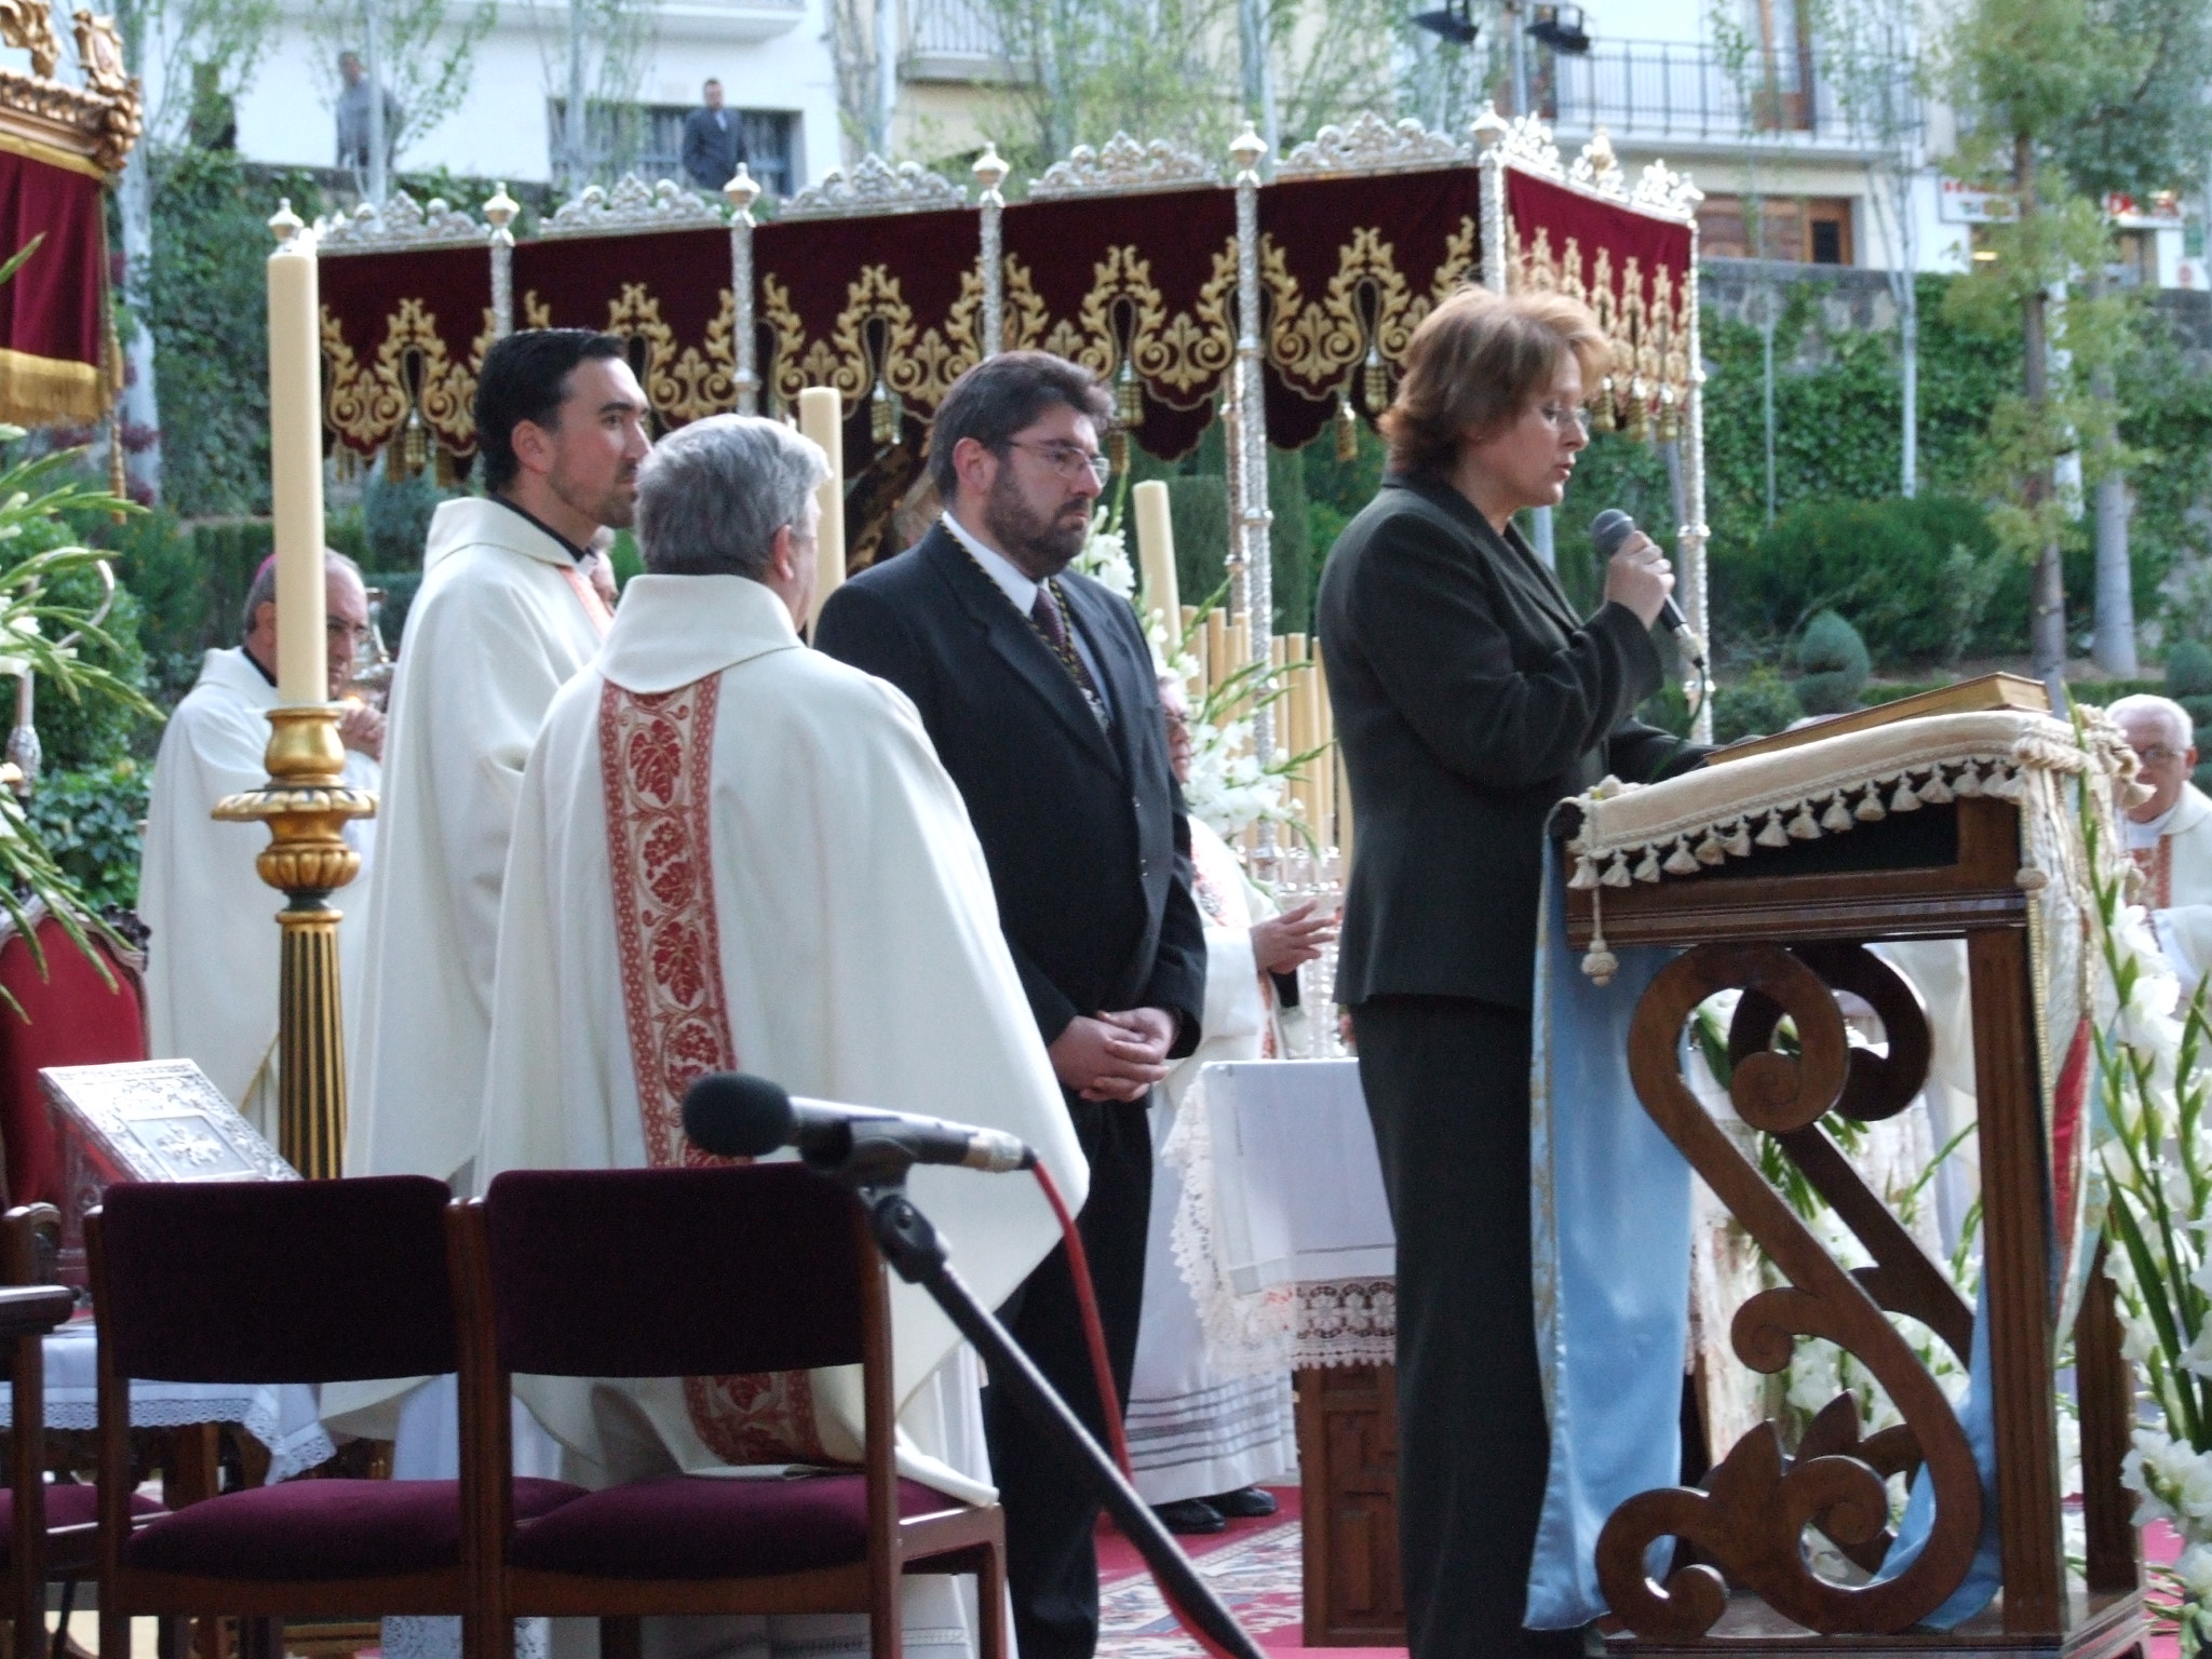
{"label": "person in white lace-trimmed robe mostly hidden behind the bearded man", "polygon": [[[1188,703],[1172,675],[1161,675],[1159,701],[1175,779],[1188,785]],[[1166,1110],[1152,1113],[1157,1161],[1126,1425],[1137,1495],[1170,1531],[1219,1533],[1232,1517],[1274,1513],[1274,1498],[1259,1486],[1298,1467],[1298,1429],[1287,1371],[1230,1378],[1206,1363],[1199,1303],[1175,1261],[1183,1181],[1159,1152],[1201,1066],[1281,1053],[1274,975],[1318,958],[1336,918],[1316,916],[1314,900],[1276,914],[1234,849],[1199,816],[1190,818],[1190,872],[1206,922],[1206,1037],[1168,1073]]]}

